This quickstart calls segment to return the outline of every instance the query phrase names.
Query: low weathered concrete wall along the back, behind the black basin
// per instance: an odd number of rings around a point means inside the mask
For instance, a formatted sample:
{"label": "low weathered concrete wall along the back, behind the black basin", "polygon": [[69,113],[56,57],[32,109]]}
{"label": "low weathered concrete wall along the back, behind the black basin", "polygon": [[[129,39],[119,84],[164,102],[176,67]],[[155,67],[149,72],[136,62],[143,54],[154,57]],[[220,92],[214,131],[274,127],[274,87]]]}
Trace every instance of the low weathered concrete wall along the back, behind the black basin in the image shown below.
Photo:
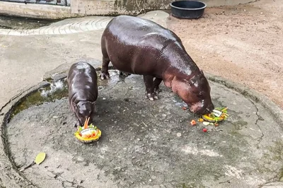
{"label": "low weathered concrete wall along the back, behind the black basin", "polygon": [[[169,9],[172,0],[71,0],[71,6],[23,4],[0,1],[0,13],[30,18],[70,18],[129,14],[143,11]],[[245,4],[256,0],[202,0],[207,6]]]}

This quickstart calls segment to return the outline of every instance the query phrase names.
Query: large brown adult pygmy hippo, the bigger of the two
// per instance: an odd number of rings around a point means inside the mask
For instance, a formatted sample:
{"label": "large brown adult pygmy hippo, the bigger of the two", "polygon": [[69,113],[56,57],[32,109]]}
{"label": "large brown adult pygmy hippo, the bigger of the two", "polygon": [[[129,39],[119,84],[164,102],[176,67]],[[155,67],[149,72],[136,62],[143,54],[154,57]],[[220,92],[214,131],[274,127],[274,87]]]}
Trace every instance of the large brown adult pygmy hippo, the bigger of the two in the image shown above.
{"label": "large brown adult pygmy hippo, the bigger of the two", "polygon": [[117,16],[103,32],[101,49],[100,78],[109,78],[111,61],[120,71],[144,76],[149,100],[157,99],[163,81],[187,103],[191,112],[207,114],[214,109],[207,78],[171,30],[143,18]]}

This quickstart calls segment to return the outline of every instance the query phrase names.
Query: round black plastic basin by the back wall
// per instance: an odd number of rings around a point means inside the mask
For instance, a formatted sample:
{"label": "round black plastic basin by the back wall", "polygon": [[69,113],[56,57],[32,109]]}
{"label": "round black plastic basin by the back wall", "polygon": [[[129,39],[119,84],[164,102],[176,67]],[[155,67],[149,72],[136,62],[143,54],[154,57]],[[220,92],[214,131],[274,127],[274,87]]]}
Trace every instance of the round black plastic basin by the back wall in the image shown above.
{"label": "round black plastic basin by the back wall", "polygon": [[196,19],[202,17],[206,4],[200,1],[174,1],[170,4],[172,15],[177,18]]}

